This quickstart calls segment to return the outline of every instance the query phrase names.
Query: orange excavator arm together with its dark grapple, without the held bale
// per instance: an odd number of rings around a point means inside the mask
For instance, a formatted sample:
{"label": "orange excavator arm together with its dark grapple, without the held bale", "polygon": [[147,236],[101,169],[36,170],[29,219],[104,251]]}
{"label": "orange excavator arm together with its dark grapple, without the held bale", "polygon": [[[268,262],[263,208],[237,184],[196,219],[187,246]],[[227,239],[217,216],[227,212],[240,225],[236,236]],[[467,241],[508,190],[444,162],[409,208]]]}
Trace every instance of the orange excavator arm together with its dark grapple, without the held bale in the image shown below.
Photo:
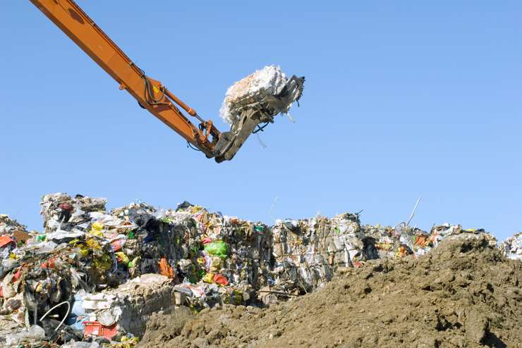
{"label": "orange excavator arm together with its dark grapple, without the held bale", "polygon": [[[231,126],[231,130],[221,133],[212,120],[201,118],[161,82],[145,75],[73,0],[30,1],[111,75],[120,89],[129,92],[142,108],[218,163],[231,160],[260,123],[274,122],[277,113],[301,98],[304,77],[293,76],[279,95],[252,101],[249,108],[238,115],[239,121]],[[179,108],[197,119],[198,126],[191,123]]]}

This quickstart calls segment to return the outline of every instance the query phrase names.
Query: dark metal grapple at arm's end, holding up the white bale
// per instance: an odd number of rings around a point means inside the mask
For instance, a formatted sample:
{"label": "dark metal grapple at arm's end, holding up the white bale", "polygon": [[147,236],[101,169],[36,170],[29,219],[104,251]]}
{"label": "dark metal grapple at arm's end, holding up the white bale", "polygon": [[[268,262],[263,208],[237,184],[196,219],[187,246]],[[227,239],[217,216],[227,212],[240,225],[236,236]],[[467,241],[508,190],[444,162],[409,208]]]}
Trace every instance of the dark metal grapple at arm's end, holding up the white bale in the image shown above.
{"label": "dark metal grapple at arm's end, holding up the white bale", "polygon": [[222,132],[214,147],[214,159],[217,163],[230,161],[243,146],[250,135],[262,123],[274,123],[274,116],[287,113],[294,101],[303,95],[305,77],[293,75],[281,92],[258,100],[251,98],[245,101],[238,120],[229,132]]}

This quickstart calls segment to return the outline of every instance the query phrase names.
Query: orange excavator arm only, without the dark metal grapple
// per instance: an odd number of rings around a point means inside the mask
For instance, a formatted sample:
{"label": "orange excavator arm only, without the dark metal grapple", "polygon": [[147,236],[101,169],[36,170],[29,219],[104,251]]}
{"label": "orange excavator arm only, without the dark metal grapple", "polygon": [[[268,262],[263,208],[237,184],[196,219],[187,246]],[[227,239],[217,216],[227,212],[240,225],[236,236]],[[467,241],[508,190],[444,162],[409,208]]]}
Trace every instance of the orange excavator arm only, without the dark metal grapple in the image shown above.
{"label": "orange excavator arm only, without the dark metal grapple", "polygon": [[[140,106],[203,151],[208,158],[214,156],[214,145],[221,133],[212,120],[203,120],[161,82],[145,75],[73,0],[30,1],[111,75],[120,89],[129,92]],[[197,118],[199,126],[191,123],[179,108]]]}

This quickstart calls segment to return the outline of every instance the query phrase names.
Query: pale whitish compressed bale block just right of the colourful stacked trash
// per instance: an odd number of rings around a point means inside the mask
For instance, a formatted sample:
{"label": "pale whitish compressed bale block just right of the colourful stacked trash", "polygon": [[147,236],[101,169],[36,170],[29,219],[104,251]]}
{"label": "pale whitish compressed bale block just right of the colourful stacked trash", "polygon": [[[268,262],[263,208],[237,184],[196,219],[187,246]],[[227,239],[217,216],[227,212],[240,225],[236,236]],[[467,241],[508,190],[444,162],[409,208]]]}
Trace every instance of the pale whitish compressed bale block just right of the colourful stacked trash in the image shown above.
{"label": "pale whitish compressed bale block just right of the colourful stacked trash", "polygon": [[272,235],[276,263],[270,285],[279,290],[315,290],[332,279],[336,268],[365,259],[364,235],[355,214],[332,220],[278,220]]}

